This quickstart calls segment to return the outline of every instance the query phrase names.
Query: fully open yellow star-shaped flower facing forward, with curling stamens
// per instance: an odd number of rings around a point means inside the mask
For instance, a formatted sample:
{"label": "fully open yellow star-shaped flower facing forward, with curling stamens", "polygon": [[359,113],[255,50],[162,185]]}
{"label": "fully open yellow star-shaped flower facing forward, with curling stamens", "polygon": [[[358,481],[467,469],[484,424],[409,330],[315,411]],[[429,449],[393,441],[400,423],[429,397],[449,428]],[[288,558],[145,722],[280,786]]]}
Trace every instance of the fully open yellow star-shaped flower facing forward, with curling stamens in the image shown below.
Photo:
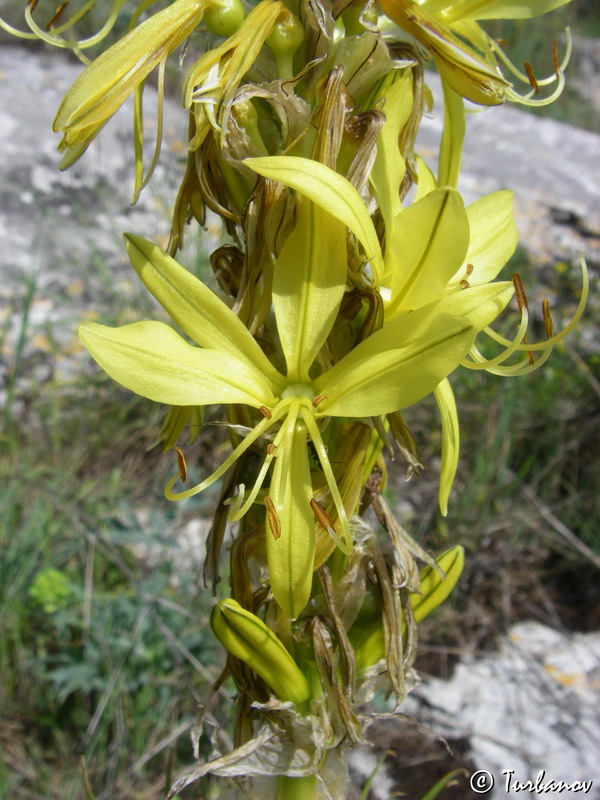
{"label": "fully open yellow star-shaped flower facing forward, with curling stamens", "polygon": [[[328,417],[392,413],[432,392],[462,361],[477,331],[495,319],[512,295],[510,284],[457,292],[394,320],[330,368],[322,365],[317,356],[345,291],[347,227],[365,252],[374,244],[378,248],[378,243],[376,237],[372,239],[362,200],[358,198],[356,206],[355,198],[348,202],[346,194],[336,194],[337,179],[343,181],[344,190],[352,189],[347,181],[328,170],[333,189],[326,183],[311,183],[309,166],[328,169],[315,163],[285,157],[246,161],[259,174],[295,185],[299,192],[296,226],[273,275],[273,307],[284,369],[271,364],[240,320],[206,286],[156,245],[132,235],[126,237],[127,249],[141,279],[199,346],[188,344],[158,322],[122,328],[88,324],[80,331],[100,366],[138,394],[170,405],[243,403],[260,412],[255,428],[211,476],[192,489],[174,493],[176,476],[166,494],[180,499],[202,491],[271,431],[254,486],[247,497],[242,487],[232,518],[239,519],[253,503],[264,502],[271,588],[292,619],[308,601],[314,566],[309,440],[337,512],[337,529],[328,526],[329,533],[349,552],[348,516],[321,423]],[[361,224],[365,225],[362,230]],[[376,265],[377,254],[370,257]],[[270,469],[270,488],[263,498],[259,493]]]}

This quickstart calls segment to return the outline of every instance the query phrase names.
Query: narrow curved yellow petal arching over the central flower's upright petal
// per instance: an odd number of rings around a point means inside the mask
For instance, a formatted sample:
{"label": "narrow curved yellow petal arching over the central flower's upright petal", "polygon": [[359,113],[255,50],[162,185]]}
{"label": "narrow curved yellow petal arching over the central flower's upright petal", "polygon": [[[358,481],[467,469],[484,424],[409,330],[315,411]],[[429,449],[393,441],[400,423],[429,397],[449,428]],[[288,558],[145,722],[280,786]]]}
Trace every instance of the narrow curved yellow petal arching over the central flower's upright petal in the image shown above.
{"label": "narrow curved yellow petal arching over the central flower's upright petal", "polygon": [[244,164],[295,189],[342,222],[362,244],[377,283],[381,281],[383,257],[377,233],[362,197],[346,178],[325,164],[297,156],[246,158]]}

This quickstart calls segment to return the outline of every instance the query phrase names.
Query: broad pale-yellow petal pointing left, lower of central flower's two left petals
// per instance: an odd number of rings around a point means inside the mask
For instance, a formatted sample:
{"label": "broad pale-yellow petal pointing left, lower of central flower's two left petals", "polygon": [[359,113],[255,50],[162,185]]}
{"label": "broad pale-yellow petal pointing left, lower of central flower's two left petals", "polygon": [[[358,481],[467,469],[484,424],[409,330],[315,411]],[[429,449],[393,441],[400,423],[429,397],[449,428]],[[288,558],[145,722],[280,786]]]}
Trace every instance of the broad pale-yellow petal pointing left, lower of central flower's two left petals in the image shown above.
{"label": "broad pale-yellow petal pointing left, lower of central flower's two left petals", "polygon": [[80,327],[79,336],[111,378],[158,403],[260,408],[274,402],[260,372],[228,353],[193,347],[162,322],[121,328],[90,323]]}

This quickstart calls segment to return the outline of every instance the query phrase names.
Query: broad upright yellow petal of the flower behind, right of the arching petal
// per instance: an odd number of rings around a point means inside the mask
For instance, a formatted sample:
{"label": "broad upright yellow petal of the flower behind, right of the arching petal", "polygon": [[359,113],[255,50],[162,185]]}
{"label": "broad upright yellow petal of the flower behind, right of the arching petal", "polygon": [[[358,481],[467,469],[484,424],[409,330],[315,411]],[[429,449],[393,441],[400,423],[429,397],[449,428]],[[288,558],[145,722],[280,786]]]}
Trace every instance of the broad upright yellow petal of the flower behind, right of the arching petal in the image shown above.
{"label": "broad upright yellow petal of the flower behind, right of the arching petal", "polygon": [[386,247],[392,269],[386,318],[442,297],[468,246],[469,222],[454,189],[436,189],[401,211]]}

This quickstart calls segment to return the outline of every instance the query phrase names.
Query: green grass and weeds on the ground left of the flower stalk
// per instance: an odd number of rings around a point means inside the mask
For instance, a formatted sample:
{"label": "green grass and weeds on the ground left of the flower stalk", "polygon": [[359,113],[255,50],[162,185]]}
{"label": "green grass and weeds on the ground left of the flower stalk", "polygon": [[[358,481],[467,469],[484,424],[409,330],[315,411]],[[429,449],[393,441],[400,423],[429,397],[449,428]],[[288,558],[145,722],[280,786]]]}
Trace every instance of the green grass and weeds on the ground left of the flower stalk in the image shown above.
{"label": "green grass and weeds on the ground left of the flower stalk", "polygon": [[0,441],[0,797],[81,798],[82,764],[97,800],[162,797],[221,658],[178,535],[211,498],[162,497],[153,404],[92,369],[24,380],[33,301],[14,304]]}

